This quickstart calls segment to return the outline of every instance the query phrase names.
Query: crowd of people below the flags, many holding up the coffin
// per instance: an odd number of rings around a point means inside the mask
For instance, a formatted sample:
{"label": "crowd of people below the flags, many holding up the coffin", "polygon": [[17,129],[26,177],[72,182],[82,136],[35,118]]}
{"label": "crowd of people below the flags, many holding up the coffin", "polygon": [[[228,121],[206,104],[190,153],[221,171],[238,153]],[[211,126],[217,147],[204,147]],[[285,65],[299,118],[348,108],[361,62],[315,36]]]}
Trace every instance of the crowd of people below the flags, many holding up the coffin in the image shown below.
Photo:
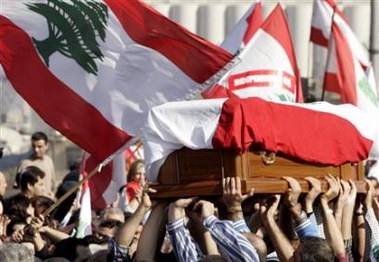
{"label": "crowd of people below the flags, many holding up the coffin", "polygon": [[379,261],[379,174],[365,180],[364,193],[327,175],[326,191],[305,177],[304,193],[283,176],[283,194],[242,194],[240,178],[225,177],[219,197],[154,199],[137,160],[115,202],[92,211],[92,234],[77,237],[79,194],[44,215],[80,179],[77,167],[55,190],[54,171],[33,164],[46,163],[47,137],[33,135],[32,145],[16,195],[4,198],[0,172],[0,261]]}

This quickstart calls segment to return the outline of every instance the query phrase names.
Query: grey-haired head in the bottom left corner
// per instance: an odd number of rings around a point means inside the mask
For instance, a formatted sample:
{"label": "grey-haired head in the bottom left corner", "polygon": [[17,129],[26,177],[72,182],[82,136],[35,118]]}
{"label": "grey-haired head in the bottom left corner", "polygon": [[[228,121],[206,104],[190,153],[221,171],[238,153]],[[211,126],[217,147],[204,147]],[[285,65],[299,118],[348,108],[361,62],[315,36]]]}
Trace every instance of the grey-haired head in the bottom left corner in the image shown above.
{"label": "grey-haired head in the bottom left corner", "polygon": [[34,261],[30,250],[21,244],[3,243],[0,245],[0,261],[2,262],[24,262]]}

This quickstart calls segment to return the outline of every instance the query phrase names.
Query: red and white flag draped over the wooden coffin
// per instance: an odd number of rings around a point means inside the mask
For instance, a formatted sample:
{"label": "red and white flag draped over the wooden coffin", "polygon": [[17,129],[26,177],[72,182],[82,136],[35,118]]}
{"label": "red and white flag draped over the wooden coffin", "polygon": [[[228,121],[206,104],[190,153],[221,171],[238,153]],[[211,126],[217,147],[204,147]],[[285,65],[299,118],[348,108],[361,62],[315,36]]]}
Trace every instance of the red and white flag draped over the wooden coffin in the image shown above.
{"label": "red and white flag draped over the wooden coffin", "polygon": [[[375,127],[375,128],[374,128]],[[156,181],[174,150],[250,146],[310,163],[340,165],[368,157],[379,126],[349,104],[298,104],[258,97],[172,102],[150,110],[143,133],[147,177]]]}

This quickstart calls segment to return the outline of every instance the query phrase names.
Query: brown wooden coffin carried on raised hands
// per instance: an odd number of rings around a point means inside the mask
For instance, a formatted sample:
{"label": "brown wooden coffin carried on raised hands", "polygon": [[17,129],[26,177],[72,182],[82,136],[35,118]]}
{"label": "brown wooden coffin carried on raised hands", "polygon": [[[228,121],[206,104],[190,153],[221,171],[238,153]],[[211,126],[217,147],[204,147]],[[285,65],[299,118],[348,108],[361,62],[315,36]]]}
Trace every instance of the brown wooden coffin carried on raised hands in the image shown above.
{"label": "brown wooden coffin carried on raised hands", "polygon": [[281,179],[291,176],[300,182],[303,192],[309,190],[302,179],[319,178],[322,189],[327,189],[323,178],[327,174],[353,179],[358,192],[364,192],[363,164],[346,163],[340,166],[318,165],[288,159],[266,152],[248,151],[237,154],[226,149],[191,150],[182,148],[168,156],[160,169],[155,197],[215,196],[222,193],[222,178],[239,176],[243,193],[252,188],[255,193],[282,193],[287,183]]}

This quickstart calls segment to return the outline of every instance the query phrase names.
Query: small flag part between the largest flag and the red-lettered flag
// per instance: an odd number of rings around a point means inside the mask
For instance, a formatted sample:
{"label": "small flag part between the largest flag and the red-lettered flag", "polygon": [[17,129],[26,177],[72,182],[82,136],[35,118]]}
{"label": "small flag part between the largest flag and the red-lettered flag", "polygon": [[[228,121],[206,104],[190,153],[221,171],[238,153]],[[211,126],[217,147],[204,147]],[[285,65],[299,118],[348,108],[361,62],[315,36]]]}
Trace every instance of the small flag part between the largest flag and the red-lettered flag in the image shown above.
{"label": "small flag part between the largest flag and the red-lettered flag", "polygon": [[262,4],[260,0],[256,0],[233,27],[220,46],[230,53],[235,54],[247,45],[262,23]]}

